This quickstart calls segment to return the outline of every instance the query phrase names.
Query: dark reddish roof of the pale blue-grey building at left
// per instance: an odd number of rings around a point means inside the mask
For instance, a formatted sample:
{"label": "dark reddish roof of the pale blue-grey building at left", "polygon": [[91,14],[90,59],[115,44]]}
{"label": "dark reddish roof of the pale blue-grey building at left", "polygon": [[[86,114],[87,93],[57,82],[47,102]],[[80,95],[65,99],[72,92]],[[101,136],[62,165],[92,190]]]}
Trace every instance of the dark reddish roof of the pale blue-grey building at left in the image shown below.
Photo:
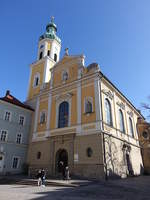
{"label": "dark reddish roof of the pale blue-grey building at left", "polygon": [[34,111],[34,109],[32,109],[30,106],[22,103],[21,101],[16,99],[14,96],[12,96],[8,90],[6,92],[6,95],[4,97],[1,97],[0,100]]}

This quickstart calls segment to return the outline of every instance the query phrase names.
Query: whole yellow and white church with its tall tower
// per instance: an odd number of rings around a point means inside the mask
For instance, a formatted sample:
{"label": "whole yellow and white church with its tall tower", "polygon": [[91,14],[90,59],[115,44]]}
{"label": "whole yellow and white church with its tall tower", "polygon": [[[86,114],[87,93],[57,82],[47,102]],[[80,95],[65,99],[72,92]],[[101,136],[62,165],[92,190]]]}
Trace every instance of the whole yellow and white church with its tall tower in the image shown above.
{"label": "whole yellow and white church with its tall tower", "polygon": [[52,20],[30,66],[26,103],[35,109],[30,172],[42,167],[57,176],[63,161],[81,177],[139,175],[143,164],[136,124],[141,114],[98,64],[86,67],[85,57],[71,56],[68,49],[59,60],[56,32]]}

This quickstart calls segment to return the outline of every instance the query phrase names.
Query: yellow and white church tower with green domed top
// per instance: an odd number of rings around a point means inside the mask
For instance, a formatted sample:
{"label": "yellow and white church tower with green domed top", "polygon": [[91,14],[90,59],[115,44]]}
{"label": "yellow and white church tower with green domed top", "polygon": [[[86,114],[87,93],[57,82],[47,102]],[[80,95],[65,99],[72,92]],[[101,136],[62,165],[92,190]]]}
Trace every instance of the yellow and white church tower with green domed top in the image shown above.
{"label": "yellow and white church tower with green domed top", "polygon": [[52,17],[51,22],[46,26],[45,33],[39,38],[37,60],[30,65],[27,100],[39,94],[40,89],[50,81],[50,69],[59,61],[61,40],[56,33],[57,26]]}

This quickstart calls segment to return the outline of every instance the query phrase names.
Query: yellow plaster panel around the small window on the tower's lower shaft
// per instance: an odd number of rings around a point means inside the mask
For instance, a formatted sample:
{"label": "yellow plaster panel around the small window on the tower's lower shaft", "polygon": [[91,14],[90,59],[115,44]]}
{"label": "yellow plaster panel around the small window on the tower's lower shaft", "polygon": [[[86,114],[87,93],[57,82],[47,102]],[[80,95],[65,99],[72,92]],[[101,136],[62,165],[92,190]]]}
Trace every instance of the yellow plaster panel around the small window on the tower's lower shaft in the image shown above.
{"label": "yellow plaster panel around the small window on the tower's lower shaft", "polygon": [[[37,95],[40,91],[40,86],[41,86],[42,81],[43,81],[44,62],[32,67],[31,73],[32,74],[31,74],[31,82],[30,82],[30,90],[29,90],[28,99],[31,99],[34,95]],[[40,74],[40,84],[36,88],[33,88],[33,81],[34,81],[34,76],[35,76],[36,73]]]}

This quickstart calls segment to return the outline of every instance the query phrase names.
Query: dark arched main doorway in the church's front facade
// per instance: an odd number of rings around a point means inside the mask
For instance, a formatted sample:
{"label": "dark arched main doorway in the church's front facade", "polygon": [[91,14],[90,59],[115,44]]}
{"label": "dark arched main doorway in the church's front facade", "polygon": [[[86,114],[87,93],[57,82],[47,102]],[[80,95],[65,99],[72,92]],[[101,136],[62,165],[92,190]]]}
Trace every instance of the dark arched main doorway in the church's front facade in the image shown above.
{"label": "dark arched main doorway in the church's front facade", "polygon": [[61,173],[62,171],[62,166],[60,164],[60,162],[63,162],[63,167],[65,168],[66,166],[68,166],[68,152],[65,149],[59,149],[56,152],[56,156],[55,156],[55,173]]}

